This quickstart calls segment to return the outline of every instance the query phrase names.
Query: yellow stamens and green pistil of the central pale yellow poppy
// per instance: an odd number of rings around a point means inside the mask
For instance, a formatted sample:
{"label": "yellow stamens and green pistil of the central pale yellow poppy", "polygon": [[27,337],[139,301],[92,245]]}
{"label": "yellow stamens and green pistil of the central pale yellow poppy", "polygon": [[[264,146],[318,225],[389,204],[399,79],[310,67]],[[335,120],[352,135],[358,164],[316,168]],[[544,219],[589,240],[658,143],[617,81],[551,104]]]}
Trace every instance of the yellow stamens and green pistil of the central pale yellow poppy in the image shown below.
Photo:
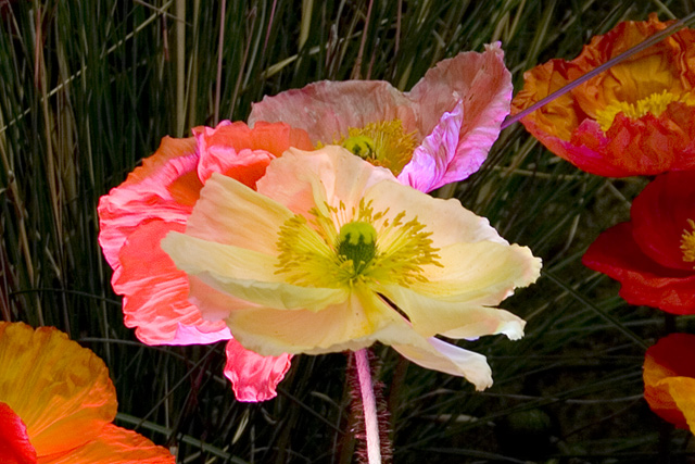
{"label": "yellow stamens and green pistil of the central pale yellow poppy", "polygon": [[422,267],[440,266],[430,236],[417,217],[405,222],[405,211],[392,220],[387,211],[375,212],[371,202],[359,202],[348,216],[339,208],[314,208],[312,220],[294,215],[278,234],[276,274],[305,287],[339,288],[357,284],[396,283],[408,286],[427,281]]}

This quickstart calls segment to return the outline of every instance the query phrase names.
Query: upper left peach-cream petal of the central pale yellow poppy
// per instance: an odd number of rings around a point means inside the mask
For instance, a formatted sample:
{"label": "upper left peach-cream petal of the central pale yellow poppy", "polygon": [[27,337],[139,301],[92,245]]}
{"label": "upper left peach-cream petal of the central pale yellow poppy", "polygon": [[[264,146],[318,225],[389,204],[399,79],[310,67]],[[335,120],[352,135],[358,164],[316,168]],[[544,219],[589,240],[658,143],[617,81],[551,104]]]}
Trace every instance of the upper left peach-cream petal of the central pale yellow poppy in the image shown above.
{"label": "upper left peach-cream petal of the central pale yellow poppy", "polygon": [[294,214],[243,184],[214,173],[186,224],[186,234],[277,255],[280,226]]}

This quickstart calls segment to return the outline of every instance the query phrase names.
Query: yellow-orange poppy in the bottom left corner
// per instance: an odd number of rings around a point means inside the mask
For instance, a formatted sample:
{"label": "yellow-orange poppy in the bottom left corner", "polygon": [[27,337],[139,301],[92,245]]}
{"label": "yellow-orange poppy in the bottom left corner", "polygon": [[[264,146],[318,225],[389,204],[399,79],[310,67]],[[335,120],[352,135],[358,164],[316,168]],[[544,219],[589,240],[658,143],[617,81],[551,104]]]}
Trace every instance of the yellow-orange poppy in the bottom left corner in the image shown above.
{"label": "yellow-orange poppy in the bottom left corner", "polygon": [[94,353],[53,327],[0,322],[0,462],[175,464],[112,424],[116,391]]}

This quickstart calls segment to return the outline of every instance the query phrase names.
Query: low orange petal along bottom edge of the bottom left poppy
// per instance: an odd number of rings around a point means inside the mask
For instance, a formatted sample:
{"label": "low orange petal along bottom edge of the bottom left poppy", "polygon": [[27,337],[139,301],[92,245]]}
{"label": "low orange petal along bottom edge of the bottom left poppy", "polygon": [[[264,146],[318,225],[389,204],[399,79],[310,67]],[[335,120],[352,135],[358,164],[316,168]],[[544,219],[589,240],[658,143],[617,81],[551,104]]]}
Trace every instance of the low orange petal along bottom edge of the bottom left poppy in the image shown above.
{"label": "low orange petal along bottom edge of the bottom left poppy", "polygon": [[[72,430],[71,430],[72,434]],[[176,464],[172,453],[135,431],[106,425],[99,437],[61,456],[47,456],[39,464]]]}

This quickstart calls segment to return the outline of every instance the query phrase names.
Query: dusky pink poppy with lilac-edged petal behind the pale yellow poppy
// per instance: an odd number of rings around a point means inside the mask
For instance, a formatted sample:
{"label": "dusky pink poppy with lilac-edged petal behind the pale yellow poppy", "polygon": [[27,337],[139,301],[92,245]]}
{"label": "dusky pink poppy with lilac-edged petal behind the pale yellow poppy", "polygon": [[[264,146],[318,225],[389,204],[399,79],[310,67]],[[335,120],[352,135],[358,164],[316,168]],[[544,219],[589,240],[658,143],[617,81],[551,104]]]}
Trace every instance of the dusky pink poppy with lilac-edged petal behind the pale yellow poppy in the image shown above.
{"label": "dusky pink poppy with lilac-edged petal behind the pale yellow poppy", "polygon": [[500,43],[459,53],[409,92],[383,80],[319,81],[265,97],[249,124],[283,122],[319,146],[342,145],[402,184],[430,191],[478,171],[509,112],[511,75]]}

